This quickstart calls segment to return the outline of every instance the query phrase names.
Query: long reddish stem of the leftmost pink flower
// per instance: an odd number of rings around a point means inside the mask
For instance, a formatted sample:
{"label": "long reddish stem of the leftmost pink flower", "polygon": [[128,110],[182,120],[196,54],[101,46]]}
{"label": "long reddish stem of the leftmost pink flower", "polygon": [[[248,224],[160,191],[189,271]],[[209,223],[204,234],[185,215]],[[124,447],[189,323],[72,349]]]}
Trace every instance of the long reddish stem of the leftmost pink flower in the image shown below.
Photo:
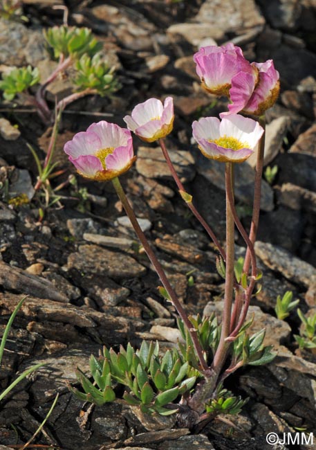
{"label": "long reddish stem of the leftmost pink flower", "polygon": [[140,226],[138,224],[138,220],[136,219],[136,215],[133,212],[131,205],[129,204],[129,201],[124,193],[124,190],[122,188],[122,185],[121,185],[118,177],[113,178],[112,183],[113,183],[116,193],[118,194],[120,201],[122,202],[122,206],[123,206],[124,210],[126,211],[127,215],[129,216],[129,220],[131,221],[131,224],[133,225],[133,228],[136,232],[136,235],[138,236],[138,239],[142,243],[142,246],[144,247],[148,258],[151,261],[151,264],[153,264],[154,269],[156,270],[156,273],[158,274],[158,276],[162,282],[162,285],[165,287],[165,289],[169,295],[169,298],[171,299],[171,303],[176,308],[176,311],[178,312],[183,323],[185,323],[187,330],[189,330],[189,334],[192,338],[192,342],[194,344],[194,349],[196,351],[196,355],[198,357],[198,360],[200,361],[201,368],[204,372],[205,377],[210,377],[210,368],[207,366],[207,362],[205,361],[205,359],[203,357],[203,350],[201,348],[201,344],[198,342],[198,336],[196,334],[196,330],[192,326],[192,323],[189,321],[189,318],[187,317],[185,309],[183,309],[183,306],[181,305],[180,301],[178,300],[178,297],[176,296],[176,292],[171,287],[169,280],[167,279],[165,271],[162,269],[162,265],[156,258],[154,251],[151,249],[151,246],[149,245],[149,242],[147,241],[145,234],[142,232],[142,229],[140,228]]}

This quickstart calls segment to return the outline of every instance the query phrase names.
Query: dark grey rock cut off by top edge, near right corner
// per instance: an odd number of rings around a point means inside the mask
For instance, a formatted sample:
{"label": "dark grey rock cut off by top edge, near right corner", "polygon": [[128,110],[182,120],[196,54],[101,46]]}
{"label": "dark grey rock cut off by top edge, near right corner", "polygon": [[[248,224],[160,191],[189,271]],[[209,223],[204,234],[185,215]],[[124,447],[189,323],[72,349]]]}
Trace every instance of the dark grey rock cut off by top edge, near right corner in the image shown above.
{"label": "dark grey rock cut off by top edge, near right corner", "polygon": [[273,28],[293,30],[301,15],[302,5],[299,0],[259,0],[263,14]]}

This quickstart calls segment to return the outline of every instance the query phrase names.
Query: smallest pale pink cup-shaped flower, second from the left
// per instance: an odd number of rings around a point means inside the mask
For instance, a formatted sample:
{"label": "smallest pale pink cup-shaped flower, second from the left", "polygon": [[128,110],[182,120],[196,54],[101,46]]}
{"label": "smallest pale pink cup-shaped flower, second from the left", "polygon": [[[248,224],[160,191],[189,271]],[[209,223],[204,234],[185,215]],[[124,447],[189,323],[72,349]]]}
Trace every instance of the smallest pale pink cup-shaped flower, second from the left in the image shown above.
{"label": "smallest pale pink cup-shaped flower, second from the left", "polygon": [[131,116],[125,116],[127,127],[143,141],[154,142],[164,138],[172,130],[174,124],[174,101],[165,99],[164,105],[157,98],[149,98],[136,105]]}

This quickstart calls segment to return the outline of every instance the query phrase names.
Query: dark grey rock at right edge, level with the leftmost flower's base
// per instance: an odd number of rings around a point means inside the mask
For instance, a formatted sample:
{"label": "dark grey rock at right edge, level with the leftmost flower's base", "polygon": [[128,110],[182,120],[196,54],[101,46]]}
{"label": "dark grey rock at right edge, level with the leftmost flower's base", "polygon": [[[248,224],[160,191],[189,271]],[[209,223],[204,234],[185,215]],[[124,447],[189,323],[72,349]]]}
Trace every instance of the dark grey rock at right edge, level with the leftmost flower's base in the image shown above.
{"label": "dark grey rock at right edge, level with the leftmost flower's base", "polygon": [[278,184],[292,183],[316,192],[315,157],[308,154],[279,154],[274,161],[281,168],[277,174]]}

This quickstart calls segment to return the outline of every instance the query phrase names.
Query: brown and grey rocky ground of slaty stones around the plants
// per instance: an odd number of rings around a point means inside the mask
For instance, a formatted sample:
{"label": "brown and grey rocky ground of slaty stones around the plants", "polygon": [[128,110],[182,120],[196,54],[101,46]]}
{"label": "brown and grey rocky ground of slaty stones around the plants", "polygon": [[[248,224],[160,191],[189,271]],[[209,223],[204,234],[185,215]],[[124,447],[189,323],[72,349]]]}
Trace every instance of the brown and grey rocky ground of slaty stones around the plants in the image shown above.
{"label": "brown and grey rocky ground of slaty stones around the plants", "polygon": [[[62,0],[23,3],[27,25],[0,20],[0,64],[2,70],[39,64],[43,74],[50,63],[41,29],[62,23],[62,13],[51,8]],[[219,114],[225,101],[201,90],[192,55],[198,46],[230,40],[251,61],[275,60],[281,95],[267,114],[265,164],[277,165],[278,171],[272,183],[263,181],[255,248],[263,289],[251,312],[253,330],[266,326],[266,343],[275,345],[278,356],[268,366],[245,368],[228,379],[227,386],[250,402],[238,417],[219,417],[199,435],[177,429],[173,420],[145,420],[118,404],[83,406],[66,386],[75,382],[75,367],[88,371],[89,355],[103,344],[116,348],[128,341],[137,346],[142,339],[158,339],[168,348],[177,337],[174,312],[158,296],[156,274],[139,252],[110,184],[78,179],[77,189],[62,191],[64,208],[50,208],[42,222],[34,201],[9,207],[3,200],[0,334],[21,294],[28,299],[8,341],[1,389],[16,372],[41,361],[46,366],[1,404],[0,449],[26,442],[56,393],[57,406],[36,442],[64,450],[270,449],[266,434],[272,431],[316,432],[315,356],[297,350],[297,315],[279,321],[274,312],[277,295],[287,290],[299,298],[304,313],[316,311],[315,0],[72,0],[67,6],[70,24],[89,26],[102,40],[104,52],[118,66],[122,88],[111,100],[95,96],[66,109],[55,156],[59,168],[73,170],[62,147],[75,132],[102,118],[123,126],[122,117],[138,102],[172,96],[176,120],[167,138],[171,159],[222,241],[223,166],[203,158],[192,145],[190,124],[200,116]],[[57,80],[48,95],[62,98],[67,90],[67,83]],[[23,105],[12,112],[3,103],[1,111],[0,195],[4,199],[7,186],[9,197],[24,193],[31,199],[37,174],[26,143],[44,158],[51,130],[35,112],[23,111]],[[187,311],[210,311],[214,302],[220,309],[223,283],[214,246],[178,197],[160,150],[137,139],[135,147],[138,160],[121,180],[142,228]],[[245,226],[250,223],[253,179],[250,159],[236,170],[236,200]],[[236,244],[242,254],[237,235]]]}

